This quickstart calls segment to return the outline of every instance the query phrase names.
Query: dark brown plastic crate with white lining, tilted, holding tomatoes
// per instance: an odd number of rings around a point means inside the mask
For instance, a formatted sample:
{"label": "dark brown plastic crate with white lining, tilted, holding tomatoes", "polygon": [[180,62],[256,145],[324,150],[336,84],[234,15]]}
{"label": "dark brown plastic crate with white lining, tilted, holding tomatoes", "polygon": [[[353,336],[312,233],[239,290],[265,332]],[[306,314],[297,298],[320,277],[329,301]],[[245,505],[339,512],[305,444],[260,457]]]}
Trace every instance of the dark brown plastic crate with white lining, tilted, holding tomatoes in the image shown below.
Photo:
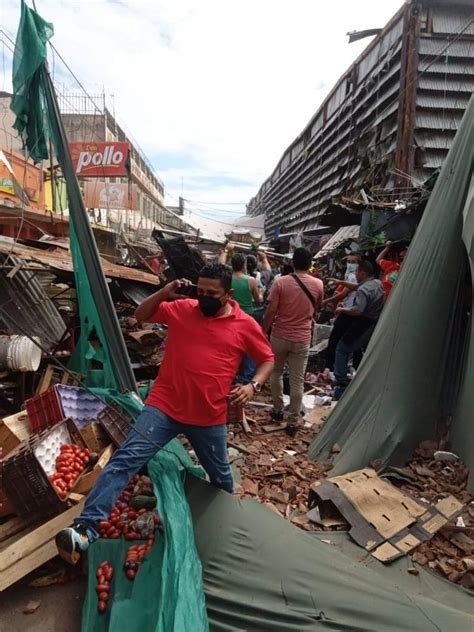
{"label": "dark brown plastic crate with white lining, tilted, holding tomatoes", "polygon": [[3,461],[3,484],[19,516],[44,516],[64,506],[48,480],[63,443],[70,443],[67,421],[19,445]]}

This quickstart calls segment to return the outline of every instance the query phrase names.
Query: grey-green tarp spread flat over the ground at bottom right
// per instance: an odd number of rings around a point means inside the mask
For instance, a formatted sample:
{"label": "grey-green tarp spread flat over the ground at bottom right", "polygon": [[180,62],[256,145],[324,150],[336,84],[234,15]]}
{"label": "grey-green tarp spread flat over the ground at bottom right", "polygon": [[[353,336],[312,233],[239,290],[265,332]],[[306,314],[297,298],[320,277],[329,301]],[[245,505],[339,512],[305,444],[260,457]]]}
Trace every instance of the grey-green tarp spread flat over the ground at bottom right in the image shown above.
{"label": "grey-green tarp spread flat over the ground at bottom right", "polygon": [[213,632],[474,629],[474,596],[423,569],[409,575],[407,558],[398,573],[366,564],[363,549],[345,554],[256,501],[194,477],[186,487]]}

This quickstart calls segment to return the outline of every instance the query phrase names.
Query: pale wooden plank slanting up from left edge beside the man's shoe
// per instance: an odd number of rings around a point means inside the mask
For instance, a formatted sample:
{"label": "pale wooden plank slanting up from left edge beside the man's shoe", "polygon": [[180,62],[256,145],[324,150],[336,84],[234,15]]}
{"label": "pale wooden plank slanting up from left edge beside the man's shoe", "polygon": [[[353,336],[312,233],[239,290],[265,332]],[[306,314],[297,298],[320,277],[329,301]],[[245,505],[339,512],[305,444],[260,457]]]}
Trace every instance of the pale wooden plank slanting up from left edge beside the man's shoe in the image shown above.
{"label": "pale wooden plank slanting up from left edge beside the man's shoe", "polygon": [[[34,529],[27,535],[23,536],[21,539],[16,540],[10,546],[6,546],[3,551],[0,552],[0,590],[3,590],[7,586],[10,586],[13,582],[17,581],[23,575],[18,577],[18,572],[16,571],[16,566],[20,565],[25,569],[23,573],[26,575],[27,573],[33,571],[37,566],[31,566],[30,564],[20,564],[28,557],[31,556],[31,559],[35,559],[34,553],[40,547],[48,544],[48,542],[52,542],[54,546],[54,537],[64,529],[72,524],[74,518],[77,518],[81,513],[84,507],[85,500],[82,500],[71,509],[68,509],[64,513],[59,516],[55,516],[52,520],[49,520],[45,524],[42,524],[40,527]],[[54,554],[51,557],[56,555],[56,548],[54,547]],[[41,555],[39,555],[41,557]],[[51,559],[48,557],[47,559]],[[43,560],[46,561],[46,560]],[[40,562],[42,564],[43,562]],[[38,566],[40,565],[38,564]],[[15,577],[16,579],[11,579],[11,577]]]}

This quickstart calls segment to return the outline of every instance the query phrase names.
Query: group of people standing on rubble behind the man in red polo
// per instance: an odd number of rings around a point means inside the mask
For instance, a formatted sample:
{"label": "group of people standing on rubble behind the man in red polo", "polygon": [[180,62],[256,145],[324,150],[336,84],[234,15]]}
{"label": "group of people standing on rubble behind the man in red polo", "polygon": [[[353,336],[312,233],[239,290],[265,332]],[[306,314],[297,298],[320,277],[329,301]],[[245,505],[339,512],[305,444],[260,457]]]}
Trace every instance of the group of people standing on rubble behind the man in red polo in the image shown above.
{"label": "group of people standing on rubble behind the man in red polo", "polygon": [[[334,399],[340,399],[350,382],[349,365],[357,370],[384,303],[396,282],[405,251],[398,252],[388,242],[374,263],[358,253],[345,257],[341,279],[326,279],[335,284],[334,293],[325,298],[324,284],[306,248],[297,248],[287,260],[272,268],[264,252],[257,256],[235,254],[225,248],[219,263],[230,263],[233,297],[269,337],[275,356],[270,380],[275,421],[283,421],[283,373],[288,371],[290,404],[287,432],[294,434],[301,418],[304,375],[312,343],[313,325],[320,312],[332,310],[332,331],[325,354],[326,375],[333,376]],[[376,266],[380,272],[376,272]],[[382,279],[377,278],[382,276]],[[246,356],[238,380],[251,382],[255,364]]]}

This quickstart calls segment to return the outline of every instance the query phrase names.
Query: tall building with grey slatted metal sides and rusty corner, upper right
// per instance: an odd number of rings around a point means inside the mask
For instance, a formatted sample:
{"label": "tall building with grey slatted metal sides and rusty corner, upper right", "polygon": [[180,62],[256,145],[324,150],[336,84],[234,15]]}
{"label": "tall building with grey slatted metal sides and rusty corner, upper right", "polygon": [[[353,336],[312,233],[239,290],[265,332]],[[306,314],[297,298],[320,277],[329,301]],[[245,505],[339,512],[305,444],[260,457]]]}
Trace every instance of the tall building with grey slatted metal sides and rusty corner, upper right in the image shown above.
{"label": "tall building with grey slatted metal sides and rusty corner, upper right", "polygon": [[265,213],[268,237],[324,225],[342,198],[359,207],[410,199],[441,166],[473,91],[472,0],[409,0],[339,79],[248,212]]}

